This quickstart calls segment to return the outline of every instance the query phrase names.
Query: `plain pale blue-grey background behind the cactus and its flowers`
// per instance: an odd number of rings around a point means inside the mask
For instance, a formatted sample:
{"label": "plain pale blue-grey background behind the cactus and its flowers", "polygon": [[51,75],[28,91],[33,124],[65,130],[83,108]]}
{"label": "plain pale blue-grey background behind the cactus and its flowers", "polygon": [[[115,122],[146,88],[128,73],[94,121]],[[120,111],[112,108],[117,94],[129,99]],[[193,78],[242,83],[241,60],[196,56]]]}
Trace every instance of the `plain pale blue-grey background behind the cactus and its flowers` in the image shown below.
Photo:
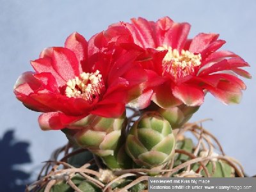
{"label": "plain pale blue-grey background behind the cactus and its flowers", "polygon": [[[192,26],[190,36],[200,32],[220,33],[220,38],[227,41],[222,49],[236,52],[248,61],[252,66],[248,70],[255,77],[255,10],[256,1],[253,0],[0,0],[0,140],[7,130],[15,129],[15,140],[30,143],[29,147],[21,145],[21,152],[24,150],[25,156],[28,148],[31,160],[29,163],[29,158],[26,158],[27,163],[22,169],[34,175],[52,150],[67,142],[60,131],[41,131],[37,123],[40,114],[24,108],[15,99],[12,89],[22,72],[32,70],[30,60],[38,58],[38,54],[45,47],[62,46],[70,33],[77,31],[88,39],[113,22],[129,21],[131,17],[157,20],[168,15],[176,22],[189,22]],[[213,121],[205,122],[204,126],[218,137],[228,156],[236,157],[243,164],[246,173],[254,175],[255,79],[244,81],[248,88],[243,94],[241,104],[225,106],[211,95],[207,95],[205,104],[193,116],[192,121],[212,118]],[[13,141],[9,144],[11,150]],[[4,163],[3,156],[8,154],[7,150],[8,148],[3,148],[0,152],[1,164]],[[19,149],[15,148],[12,158],[21,157]]]}

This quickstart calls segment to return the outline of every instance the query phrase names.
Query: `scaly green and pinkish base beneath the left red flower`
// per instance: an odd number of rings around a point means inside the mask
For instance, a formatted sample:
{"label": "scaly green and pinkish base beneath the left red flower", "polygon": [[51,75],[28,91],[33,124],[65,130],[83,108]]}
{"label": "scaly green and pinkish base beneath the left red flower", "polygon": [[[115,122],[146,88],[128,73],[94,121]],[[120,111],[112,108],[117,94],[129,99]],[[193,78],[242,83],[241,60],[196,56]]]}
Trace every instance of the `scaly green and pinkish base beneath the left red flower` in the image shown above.
{"label": "scaly green and pinkish base beneath the left red flower", "polygon": [[122,147],[124,139],[121,132],[125,126],[125,115],[120,118],[88,115],[63,132],[72,143],[88,148],[93,154],[100,156],[109,168],[123,168],[126,162],[122,161],[129,161]]}

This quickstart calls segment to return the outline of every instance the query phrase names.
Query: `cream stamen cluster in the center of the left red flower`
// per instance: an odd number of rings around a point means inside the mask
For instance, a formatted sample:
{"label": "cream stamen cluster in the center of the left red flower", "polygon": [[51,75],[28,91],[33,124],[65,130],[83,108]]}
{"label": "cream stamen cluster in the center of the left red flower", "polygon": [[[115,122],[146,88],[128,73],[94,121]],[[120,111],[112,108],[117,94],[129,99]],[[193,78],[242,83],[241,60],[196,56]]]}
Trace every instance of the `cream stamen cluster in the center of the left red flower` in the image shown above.
{"label": "cream stamen cluster in the center of the left red flower", "polygon": [[99,98],[105,91],[104,81],[99,70],[94,73],[80,74],[79,77],[69,79],[65,93],[67,97],[82,98],[92,103],[95,98]]}

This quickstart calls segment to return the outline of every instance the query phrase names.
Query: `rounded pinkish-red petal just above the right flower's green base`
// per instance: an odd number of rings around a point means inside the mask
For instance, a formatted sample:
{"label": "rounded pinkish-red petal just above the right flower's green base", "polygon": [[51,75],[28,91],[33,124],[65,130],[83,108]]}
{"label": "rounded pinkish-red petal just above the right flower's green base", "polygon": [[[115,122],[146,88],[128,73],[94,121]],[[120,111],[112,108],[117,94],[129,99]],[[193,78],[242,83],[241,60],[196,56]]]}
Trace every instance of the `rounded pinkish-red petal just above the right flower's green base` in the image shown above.
{"label": "rounded pinkish-red petal just above the right flower's green base", "polygon": [[173,95],[187,106],[200,106],[204,102],[203,90],[190,84],[173,86],[172,91]]}

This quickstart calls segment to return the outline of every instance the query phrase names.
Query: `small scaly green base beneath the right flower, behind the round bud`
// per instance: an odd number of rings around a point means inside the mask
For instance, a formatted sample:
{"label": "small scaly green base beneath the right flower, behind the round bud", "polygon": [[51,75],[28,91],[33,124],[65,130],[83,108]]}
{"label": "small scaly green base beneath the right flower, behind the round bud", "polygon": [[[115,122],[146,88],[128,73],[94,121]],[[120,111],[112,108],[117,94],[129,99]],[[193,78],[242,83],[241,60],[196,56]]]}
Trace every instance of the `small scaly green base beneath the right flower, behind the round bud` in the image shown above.
{"label": "small scaly green base beneath the right flower, behind the round bud", "polygon": [[185,104],[173,108],[159,108],[157,111],[170,123],[172,129],[182,127],[191,116],[199,109],[199,106],[189,107]]}

